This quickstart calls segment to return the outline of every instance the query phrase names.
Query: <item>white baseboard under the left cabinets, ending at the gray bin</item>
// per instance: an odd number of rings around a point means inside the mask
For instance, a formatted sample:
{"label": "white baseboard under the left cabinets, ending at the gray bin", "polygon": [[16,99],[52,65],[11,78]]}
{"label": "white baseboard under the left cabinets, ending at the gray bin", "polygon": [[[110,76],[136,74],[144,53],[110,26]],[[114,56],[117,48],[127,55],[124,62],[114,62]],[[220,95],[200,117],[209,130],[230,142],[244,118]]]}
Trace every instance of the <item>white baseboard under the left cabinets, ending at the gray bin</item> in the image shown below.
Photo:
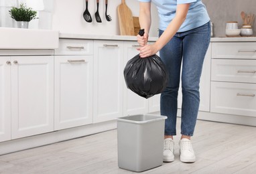
{"label": "white baseboard under the left cabinets, ending at the gray bin", "polygon": [[87,135],[102,133],[107,130],[117,128],[117,121],[112,120],[108,122],[100,122],[97,124],[88,124],[85,126],[78,126],[75,128],[67,128],[64,130],[54,131],[52,133],[45,133],[42,135],[35,135],[11,141],[0,143],[0,155],[50,145],[70,139],[76,139]]}

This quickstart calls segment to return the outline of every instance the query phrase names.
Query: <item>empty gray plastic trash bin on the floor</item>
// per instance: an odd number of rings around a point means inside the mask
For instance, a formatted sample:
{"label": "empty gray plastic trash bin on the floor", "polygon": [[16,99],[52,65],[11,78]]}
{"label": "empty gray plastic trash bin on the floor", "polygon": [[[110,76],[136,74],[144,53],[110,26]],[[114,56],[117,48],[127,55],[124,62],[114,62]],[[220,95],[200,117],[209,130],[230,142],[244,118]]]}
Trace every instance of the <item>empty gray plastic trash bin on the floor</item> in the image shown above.
{"label": "empty gray plastic trash bin on the floor", "polygon": [[166,118],[155,114],[117,118],[118,166],[121,169],[141,172],[162,165]]}

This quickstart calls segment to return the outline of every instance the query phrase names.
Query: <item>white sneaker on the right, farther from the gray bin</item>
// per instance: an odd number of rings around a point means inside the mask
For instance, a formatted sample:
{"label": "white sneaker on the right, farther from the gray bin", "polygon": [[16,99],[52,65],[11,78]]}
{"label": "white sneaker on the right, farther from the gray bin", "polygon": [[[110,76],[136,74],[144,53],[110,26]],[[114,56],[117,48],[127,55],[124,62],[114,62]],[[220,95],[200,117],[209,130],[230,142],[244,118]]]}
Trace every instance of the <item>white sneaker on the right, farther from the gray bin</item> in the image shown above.
{"label": "white sneaker on the right, farther from the gray bin", "polygon": [[189,139],[180,140],[180,161],[184,163],[194,163],[196,161],[196,155]]}

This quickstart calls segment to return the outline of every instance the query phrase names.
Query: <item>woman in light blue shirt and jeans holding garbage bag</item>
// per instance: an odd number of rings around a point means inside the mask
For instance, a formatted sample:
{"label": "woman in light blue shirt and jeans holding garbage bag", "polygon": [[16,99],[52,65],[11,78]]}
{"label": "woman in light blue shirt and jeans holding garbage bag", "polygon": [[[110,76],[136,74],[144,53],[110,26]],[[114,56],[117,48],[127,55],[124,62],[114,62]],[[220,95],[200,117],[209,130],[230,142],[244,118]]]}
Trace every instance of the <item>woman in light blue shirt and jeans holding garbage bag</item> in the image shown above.
{"label": "woman in light blue shirt and jeans holding garbage bag", "polygon": [[[204,56],[210,42],[210,18],[201,0],[139,0],[139,23],[145,29],[137,35],[141,58],[159,51],[169,82],[161,94],[161,114],[165,125],[164,162],[174,161],[177,97],[182,66],[182,124],[180,161],[194,163],[196,156],[190,137],[194,134],[200,102],[199,82]],[[159,13],[159,38],[147,45],[151,25],[151,1]]]}

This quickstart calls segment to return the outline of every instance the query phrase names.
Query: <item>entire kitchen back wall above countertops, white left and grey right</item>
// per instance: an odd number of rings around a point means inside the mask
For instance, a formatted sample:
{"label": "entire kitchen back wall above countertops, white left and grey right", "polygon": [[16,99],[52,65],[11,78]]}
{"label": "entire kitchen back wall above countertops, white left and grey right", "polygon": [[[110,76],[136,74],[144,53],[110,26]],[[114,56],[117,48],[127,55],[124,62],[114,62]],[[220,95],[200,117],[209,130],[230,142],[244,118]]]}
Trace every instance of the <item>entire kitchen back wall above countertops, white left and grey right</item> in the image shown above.
{"label": "entire kitchen back wall above countertops, white left and grey right", "polygon": [[[85,0],[84,0],[85,1]],[[84,1],[71,0],[0,0],[0,27],[17,27],[15,21],[9,17],[9,9],[21,2],[38,11],[38,17],[29,23],[31,28],[54,29],[64,33],[86,33],[119,35],[119,22],[117,19],[117,5],[119,1],[109,1],[108,11],[112,17],[111,22],[103,20],[97,23],[94,20],[96,0],[89,1],[89,10],[92,14],[92,23],[87,23],[82,18],[85,9]],[[202,0],[208,9],[210,19],[214,23],[214,37],[225,37],[225,27],[227,21],[238,21],[241,28],[243,21],[241,11],[254,13],[256,15],[255,0]],[[104,18],[105,4],[100,0],[100,15]],[[126,1],[134,16],[139,15],[139,1]],[[152,5],[152,26],[150,35],[157,36],[158,16],[155,5]],[[256,19],[253,23],[253,32],[256,36]]]}

